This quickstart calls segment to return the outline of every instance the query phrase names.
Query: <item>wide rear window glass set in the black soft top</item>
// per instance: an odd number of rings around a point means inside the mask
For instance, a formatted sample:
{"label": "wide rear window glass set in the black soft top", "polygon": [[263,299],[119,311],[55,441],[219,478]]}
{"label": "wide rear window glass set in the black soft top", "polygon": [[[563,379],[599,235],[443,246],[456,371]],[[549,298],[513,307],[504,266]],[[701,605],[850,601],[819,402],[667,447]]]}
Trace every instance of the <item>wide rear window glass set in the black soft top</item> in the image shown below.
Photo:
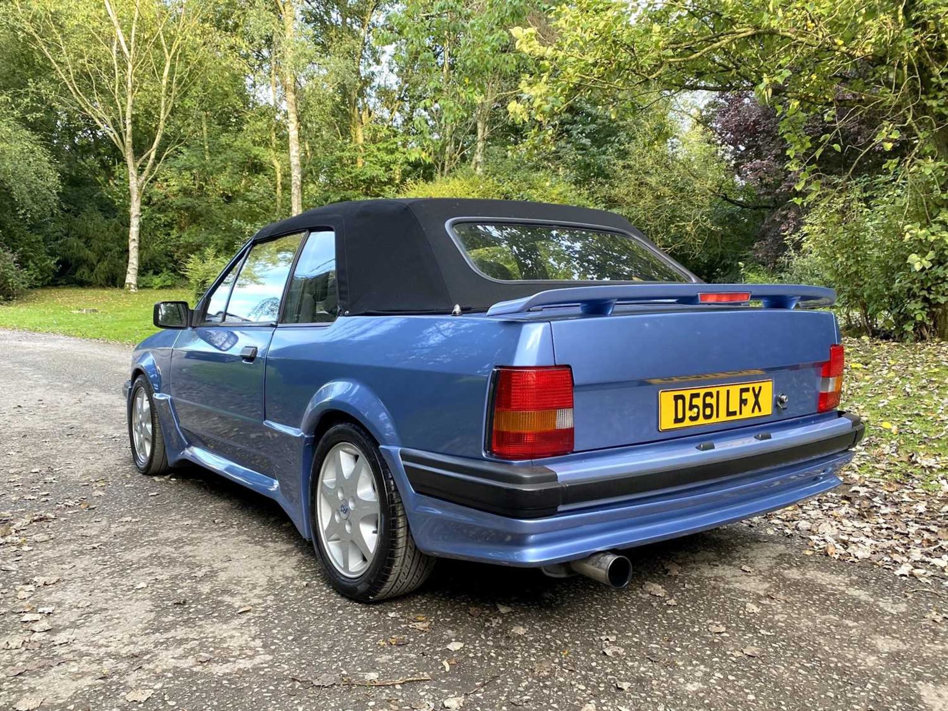
{"label": "wide rear window glass set in the black soft top", "polygon": [[690,282],[670,260],[628,234],[527,223],[455,223],[468,259],[503,282]]}

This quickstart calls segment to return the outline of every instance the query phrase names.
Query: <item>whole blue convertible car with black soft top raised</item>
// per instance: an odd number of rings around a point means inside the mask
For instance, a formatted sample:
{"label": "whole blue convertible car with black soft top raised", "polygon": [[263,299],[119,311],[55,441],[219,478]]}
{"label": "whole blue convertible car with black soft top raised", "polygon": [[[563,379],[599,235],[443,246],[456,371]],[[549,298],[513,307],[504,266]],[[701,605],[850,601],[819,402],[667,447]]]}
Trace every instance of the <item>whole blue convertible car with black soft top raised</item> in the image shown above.
{"label": "whole blue convertible car with black soft top raised", "polygon": [[340,593],[437,557],[581,573],[836,486],[862,437],[812,286],[702,283],[621,217],[371,200],[261,229],[135,351],[144,474],[278,501]]}

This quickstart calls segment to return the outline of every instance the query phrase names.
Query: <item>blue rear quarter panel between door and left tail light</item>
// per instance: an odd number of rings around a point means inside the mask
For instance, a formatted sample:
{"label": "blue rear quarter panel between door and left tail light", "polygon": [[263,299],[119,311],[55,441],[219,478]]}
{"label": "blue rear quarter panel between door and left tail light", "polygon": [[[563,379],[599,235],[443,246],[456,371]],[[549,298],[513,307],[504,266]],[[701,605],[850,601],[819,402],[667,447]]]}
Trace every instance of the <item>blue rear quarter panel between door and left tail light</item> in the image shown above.
{"label": "blue rear quarter panel between door and left tail light", "polygon": [[[483,455],[491,373],[554,360],[550,325],[467,317],[351,317],[281,325],[266,358],[265,414],[283,444],[273,466],[285,495],[308,470],[301,447],[319,416],[346,412],[380,445]],[[277,444],[277,443],[274,443]]]}

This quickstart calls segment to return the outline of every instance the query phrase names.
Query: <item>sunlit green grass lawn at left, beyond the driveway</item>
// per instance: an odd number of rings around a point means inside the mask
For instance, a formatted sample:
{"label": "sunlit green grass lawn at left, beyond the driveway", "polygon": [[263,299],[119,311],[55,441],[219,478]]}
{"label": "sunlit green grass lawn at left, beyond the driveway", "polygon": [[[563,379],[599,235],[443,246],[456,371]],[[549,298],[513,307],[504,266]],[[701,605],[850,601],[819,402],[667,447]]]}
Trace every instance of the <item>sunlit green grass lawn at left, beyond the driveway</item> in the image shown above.
{"label": "sunlit green grass lawn at left, beyond the driveway", "polygon": [[[188,289],[93,289],[58,286],[0,302],[0,327],[137,343],[155,333],[155,301],[192,301]],[[82,309],[96,309],[82,313]]]}

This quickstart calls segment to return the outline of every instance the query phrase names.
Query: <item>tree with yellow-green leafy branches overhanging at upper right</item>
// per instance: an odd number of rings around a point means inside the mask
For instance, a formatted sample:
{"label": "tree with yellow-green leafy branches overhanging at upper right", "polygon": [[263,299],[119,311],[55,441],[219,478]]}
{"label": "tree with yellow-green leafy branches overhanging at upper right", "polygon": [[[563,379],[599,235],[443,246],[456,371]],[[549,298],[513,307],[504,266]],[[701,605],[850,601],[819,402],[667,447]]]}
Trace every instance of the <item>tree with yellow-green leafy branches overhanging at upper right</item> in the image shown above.
{"label": "tree with yellow-green leafy branches overhanging at upper right", "polygon": [[[591,92],[640,103],[754,92],[775,111],[797,203],[825,199],[884,155],[881,170],[912,193],[888,239],[916,283],[934,283],[948,264],[946,22],[945,0],[580,0],[557,6],[549,28],[515,30],[540,63],[519,110],[547,120]],[[830,153],[842,173],[826,170]],[[883,185],[861,193],[870,210]],[[939,289],[920,292],[916,335],[948,333]]]}

